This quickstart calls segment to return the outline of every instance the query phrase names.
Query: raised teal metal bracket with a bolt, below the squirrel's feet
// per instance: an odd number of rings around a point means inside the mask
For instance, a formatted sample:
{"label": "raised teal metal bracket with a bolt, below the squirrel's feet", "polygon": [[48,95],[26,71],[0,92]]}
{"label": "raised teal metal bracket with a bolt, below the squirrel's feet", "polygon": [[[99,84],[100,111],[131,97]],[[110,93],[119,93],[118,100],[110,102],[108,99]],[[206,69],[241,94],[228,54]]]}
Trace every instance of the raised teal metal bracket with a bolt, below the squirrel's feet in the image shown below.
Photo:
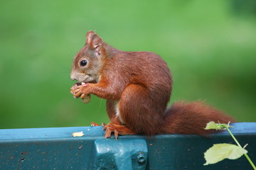
{"label": "raised teal metal bracket with a bolt, below the squirrel's feet", "polygon": [[92,169],[146,169],[144,139],[95,140]]}

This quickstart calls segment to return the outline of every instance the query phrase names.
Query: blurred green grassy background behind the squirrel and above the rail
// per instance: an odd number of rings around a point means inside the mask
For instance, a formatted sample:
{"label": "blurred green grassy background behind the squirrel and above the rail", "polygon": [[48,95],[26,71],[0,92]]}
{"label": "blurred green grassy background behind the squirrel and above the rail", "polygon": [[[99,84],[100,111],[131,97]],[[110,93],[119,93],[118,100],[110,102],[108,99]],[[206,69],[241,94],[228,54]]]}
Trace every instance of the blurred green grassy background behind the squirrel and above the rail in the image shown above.
{"label": "blurred green grassy background behind the squirrel and above the rail", "polygon": [[1,1],[0,128],[107,123],[105,100],[69,93],[73,56],[94,30],[119,50],[161,55],[172,102],[205,100],[256,121],[255,1]]}

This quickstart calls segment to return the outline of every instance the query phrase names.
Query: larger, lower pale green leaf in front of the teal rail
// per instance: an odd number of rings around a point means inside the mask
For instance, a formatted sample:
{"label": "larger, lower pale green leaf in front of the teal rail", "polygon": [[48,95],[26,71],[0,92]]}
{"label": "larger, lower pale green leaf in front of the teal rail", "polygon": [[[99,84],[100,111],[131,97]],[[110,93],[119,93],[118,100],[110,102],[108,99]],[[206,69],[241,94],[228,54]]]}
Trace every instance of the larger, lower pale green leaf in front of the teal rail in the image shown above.
{"label": "larger, lower pale green leaf in front of the teal rail", "polygon": [[238,159],[243,154],[247,154],[247,150],[233,144],[215,144],[210,147],[205,153],[206,164],[215,164],[223,159]]}

